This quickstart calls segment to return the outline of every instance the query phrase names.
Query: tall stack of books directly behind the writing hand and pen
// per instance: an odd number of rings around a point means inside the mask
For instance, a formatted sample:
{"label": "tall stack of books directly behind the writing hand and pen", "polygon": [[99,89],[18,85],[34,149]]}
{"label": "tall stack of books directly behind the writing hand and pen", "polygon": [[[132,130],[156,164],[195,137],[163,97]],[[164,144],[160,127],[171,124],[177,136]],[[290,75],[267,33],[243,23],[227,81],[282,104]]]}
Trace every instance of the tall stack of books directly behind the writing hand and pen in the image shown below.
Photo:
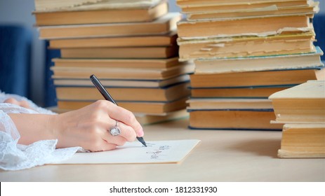
{"label": "tall stack of books directly behind the writing hand and pen", "polygon": [[161,0],[35,0],[39,37],[60,49],[53,59],[58,111],[103,99],[100,78],[119,106],[142,123],[185,116],[194,64],[180,62],[176,23]]}

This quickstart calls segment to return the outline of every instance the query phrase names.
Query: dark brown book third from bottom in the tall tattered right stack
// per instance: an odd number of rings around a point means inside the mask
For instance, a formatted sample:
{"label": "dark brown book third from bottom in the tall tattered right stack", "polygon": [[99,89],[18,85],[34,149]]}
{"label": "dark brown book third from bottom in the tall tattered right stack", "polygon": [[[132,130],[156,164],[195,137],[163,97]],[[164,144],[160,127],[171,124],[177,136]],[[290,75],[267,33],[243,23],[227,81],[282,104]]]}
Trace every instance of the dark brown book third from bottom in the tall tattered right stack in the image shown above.
{"label": "dark brown book third from bottom in the tall tattered right stack", "polygon": [[293,87],[293,85],[191,88],[191,96],[194,98],[267,98],[274,92],[285,90],[289,87]]}

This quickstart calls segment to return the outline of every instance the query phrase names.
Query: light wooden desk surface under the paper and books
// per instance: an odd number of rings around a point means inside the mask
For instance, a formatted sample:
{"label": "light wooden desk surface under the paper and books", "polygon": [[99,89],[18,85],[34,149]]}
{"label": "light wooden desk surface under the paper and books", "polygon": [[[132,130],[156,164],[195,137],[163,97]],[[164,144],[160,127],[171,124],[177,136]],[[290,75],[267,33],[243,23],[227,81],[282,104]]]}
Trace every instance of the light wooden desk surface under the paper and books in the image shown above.
{"label": "light wooden desk surface under the paper and books", "polygon": [[0,172],[0,181],[325,181],[325,159],[279,159],[281,132],[188,130],[178,120],[145,139],[200,139],[181,164],[45,165]]}

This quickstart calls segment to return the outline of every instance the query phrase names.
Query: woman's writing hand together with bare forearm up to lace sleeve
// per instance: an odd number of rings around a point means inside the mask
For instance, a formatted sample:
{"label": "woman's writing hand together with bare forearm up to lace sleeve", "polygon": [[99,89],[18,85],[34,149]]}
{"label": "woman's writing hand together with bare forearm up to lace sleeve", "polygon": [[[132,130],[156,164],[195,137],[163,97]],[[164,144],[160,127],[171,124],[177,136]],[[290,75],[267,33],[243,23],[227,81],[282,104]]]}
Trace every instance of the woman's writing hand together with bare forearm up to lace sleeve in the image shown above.
{"label": "woman's writing hand together with bare forearm up to lace sleeve", "polygon": [[[90,151],[110,151],[143,136],[133,113],[105,100],[58,115],[12,113],[9,116],[20,132],[20,144],[58,139],[57,148],[81,146]],[[112,136],[109,130],[116,120],[121,134]]]}

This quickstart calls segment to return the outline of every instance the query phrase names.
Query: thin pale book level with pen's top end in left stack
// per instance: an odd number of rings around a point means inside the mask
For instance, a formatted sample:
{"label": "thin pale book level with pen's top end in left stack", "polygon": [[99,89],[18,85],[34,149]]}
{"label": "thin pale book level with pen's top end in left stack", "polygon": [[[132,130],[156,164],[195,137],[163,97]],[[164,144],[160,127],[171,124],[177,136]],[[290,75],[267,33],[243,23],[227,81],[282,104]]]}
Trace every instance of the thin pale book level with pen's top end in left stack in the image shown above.
{"label": "thin pale book level with pen's top end in left stack", "polygon": [[[124,80],[124,79],[101,79],[100,83],[111,87],[166,87],[175,83],[190,82],[190,76],[183,74],[166,80]],[[84,86],[93,87],[89,78],[55,78],[53,83],[57,86]]]}

